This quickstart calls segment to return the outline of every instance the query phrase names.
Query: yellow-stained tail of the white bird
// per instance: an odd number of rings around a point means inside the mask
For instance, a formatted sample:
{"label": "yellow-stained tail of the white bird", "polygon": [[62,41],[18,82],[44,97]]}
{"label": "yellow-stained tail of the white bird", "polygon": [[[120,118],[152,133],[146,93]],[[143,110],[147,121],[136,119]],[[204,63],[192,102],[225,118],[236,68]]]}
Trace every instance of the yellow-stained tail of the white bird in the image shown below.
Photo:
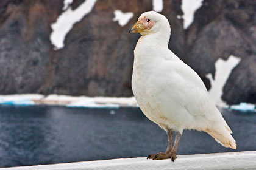
{"label": "yellow-stained tail of the white bird", "polygon": [[220,126],[218,126],[218,131],[216,131],[216,128],[214,128],[215,130],[207,128],[205,132],[211,135],[222,146],[236,149],[236,142],[232,135],[230,135],[232,133],[230,128],[227,129],[226,126],[224,126],[224,128],[219,127]]}

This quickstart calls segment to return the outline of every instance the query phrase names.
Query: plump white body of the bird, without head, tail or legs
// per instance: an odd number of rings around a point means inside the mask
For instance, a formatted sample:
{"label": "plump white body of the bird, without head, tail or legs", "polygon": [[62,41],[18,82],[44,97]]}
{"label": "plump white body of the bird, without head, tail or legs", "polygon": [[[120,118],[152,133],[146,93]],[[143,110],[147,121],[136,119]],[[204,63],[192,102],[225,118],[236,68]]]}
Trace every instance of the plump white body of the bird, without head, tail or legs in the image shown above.
{"label": "plump white body of the bird, without head, tail or legs", "polygon": [[[147,40],[137,43],[132,75],[133,94],[146,117],[179,131],[201,131],[210,121],[226,124],[197,73],[168,47]],[[205,115],[207,110],[213,114]]]}

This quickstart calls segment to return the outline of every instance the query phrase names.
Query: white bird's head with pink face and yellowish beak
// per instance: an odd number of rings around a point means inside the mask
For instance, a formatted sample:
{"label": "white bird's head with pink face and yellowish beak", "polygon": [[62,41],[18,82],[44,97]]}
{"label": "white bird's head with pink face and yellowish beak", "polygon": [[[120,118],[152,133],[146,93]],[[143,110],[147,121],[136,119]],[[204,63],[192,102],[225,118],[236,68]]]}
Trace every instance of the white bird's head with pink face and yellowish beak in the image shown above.
{"label": "white bird's head with pink face and yellowish beak", "polygon": [[138,21],[129,29],[129,33],[148,35],[163,30],[171,32],[168,19],[160,13],[148,11],[141,14]]}

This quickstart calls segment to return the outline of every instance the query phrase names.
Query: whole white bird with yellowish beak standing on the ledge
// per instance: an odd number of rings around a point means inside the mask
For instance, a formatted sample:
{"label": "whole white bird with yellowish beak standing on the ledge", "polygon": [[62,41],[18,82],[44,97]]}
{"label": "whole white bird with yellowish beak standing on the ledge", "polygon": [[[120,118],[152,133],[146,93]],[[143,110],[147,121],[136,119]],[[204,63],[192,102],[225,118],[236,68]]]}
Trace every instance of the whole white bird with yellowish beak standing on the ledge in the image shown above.
{"label": "whole white bird with yellowish beak standing on the ledge", "polygon": [[142,35],[134,50],[133,94],[144,115],[168,134],[166,152],[148,158],[174,161],[184,129],[207,132],[222,146],[236,149],[232,131],[199,75],[169,50],[168,19],[154,11],[144,12],[129,32]]}

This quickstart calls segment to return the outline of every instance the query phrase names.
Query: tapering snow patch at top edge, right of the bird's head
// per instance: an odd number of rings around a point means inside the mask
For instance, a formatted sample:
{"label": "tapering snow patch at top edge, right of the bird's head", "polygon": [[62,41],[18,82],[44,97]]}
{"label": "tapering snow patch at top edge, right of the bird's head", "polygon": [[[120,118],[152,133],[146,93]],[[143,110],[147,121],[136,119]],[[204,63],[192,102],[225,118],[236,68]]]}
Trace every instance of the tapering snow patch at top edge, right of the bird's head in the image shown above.
{"label": "tapering snow patch at top edge, right of the bird's head", "polygon": [[183,28],[187,29],[194,21],[194,13],[202,6],[204,0],[182,0]]}

